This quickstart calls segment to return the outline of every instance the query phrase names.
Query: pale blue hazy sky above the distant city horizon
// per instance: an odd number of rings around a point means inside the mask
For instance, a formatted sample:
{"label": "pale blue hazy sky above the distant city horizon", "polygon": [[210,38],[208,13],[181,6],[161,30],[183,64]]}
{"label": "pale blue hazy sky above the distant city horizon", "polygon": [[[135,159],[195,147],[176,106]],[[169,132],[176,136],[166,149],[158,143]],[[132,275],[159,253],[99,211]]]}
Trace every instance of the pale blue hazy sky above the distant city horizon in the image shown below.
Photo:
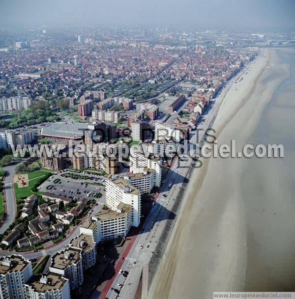
{"label": "pale blue hazy sky above the distant city horizon", "polygon": [[0,0],[0,24],[295,27],[295,0]]}

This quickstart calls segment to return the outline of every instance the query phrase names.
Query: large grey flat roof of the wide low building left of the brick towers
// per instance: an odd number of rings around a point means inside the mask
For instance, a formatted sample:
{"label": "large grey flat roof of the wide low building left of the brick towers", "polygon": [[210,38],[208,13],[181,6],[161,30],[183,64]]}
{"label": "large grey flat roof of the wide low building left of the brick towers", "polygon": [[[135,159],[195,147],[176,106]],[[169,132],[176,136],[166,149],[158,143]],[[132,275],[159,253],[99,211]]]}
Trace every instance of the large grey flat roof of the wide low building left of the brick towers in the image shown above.
{"label": "large grey flat roof of the wide low building left of the brick towers", "polygon": [[66,139],[81,139],[87,123],[51,123],[41,130],[41,136]]}

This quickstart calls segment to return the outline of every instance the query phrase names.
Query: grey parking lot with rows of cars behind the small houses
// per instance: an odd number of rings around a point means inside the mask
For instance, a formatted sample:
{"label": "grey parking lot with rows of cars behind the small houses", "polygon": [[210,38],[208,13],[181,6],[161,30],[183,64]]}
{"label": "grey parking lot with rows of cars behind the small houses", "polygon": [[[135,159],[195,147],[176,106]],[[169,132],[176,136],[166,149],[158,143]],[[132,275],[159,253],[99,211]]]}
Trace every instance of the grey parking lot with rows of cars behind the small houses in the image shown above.
{"label": "grey parking lot with rows of cars behind the small houses", "polygon": [[56,172],[39,187],[39,190],[75,199],[95,199],[98,205],[95,207],[97,211],[94,212],[98,212],[105,203],[104,177],[96,174],[68,170]]}

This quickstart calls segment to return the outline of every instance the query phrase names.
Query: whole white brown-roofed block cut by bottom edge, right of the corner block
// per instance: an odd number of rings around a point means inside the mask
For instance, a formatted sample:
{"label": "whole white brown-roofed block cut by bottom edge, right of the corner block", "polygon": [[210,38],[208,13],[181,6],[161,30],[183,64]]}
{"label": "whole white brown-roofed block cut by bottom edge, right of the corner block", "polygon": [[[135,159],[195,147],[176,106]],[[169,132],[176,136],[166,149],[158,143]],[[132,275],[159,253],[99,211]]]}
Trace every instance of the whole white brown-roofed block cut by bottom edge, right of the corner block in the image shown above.
{"label": "whole white brown-roofed block cut by bottom edge, right of the corner block", "polygon": [[53,272],[33,275],[25,284],[25,292],[26,299],[71,299],[68,279]]}

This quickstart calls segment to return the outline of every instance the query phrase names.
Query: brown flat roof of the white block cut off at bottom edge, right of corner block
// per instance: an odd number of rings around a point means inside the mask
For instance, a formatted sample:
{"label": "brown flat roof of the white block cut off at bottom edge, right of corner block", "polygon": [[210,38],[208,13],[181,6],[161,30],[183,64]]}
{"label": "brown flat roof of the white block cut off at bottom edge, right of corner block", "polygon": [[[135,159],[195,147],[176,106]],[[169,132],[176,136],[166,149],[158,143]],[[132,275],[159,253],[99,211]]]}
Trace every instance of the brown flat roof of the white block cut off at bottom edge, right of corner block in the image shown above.
{"label": "brown flat roof of the white block cut off at bottom edge, right of corner block", "polygon": [[44,281],[41,280],[42,282],[40,281],[41,277],[42,275],[33,275],[27,283],[34,289],[35,292],[38,293],[60,290],[67,281],[67,279],[64,279],[61,274],[53,272],[48,272],[47,274],[43,275]]}

